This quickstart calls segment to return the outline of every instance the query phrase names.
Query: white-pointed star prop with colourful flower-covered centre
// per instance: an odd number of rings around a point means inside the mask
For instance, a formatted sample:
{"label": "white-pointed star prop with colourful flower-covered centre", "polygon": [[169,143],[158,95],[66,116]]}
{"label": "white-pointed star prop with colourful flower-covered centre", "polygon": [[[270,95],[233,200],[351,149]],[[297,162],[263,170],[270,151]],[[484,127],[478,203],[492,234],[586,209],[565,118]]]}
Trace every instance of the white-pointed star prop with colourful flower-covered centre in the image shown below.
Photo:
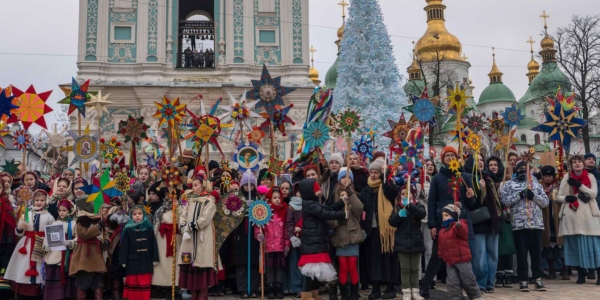
{"label": "white-pointed star prop with colourful flower-covered centre", "polygon": [[231,105],[220,105],[218,106],[220,109],[224,109],[227,112],[218,118],[221,119],[221,122],[227,123],[233,121],[233,130],[232,136],[234,132],[238,132],[238,130],[242,130],[242,125],[245,127],[245,130],[250,130],[252,125],[250,124],[251,118],[260,118],[260,115],[252,110],[252,107],[256,105],[260,100],[254,100],[252,102],[246,103],[246,91],[244,90],[244,94],[242,94],[242,98],[240,100],[236,100],[236,98],[231,94],[231,92],[227,92],[229,95],[229,101],[231,101]]}

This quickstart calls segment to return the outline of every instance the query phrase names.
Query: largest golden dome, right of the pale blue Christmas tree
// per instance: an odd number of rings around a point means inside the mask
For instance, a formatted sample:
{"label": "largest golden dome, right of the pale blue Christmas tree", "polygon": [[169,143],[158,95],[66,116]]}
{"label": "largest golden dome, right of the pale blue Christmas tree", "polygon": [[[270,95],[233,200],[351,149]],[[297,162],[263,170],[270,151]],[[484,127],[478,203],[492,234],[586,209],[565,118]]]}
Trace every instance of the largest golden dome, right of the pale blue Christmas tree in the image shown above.
{"label": "largest golden dome, right of the pale blue Christmas tree", "polygon": [[416,43],[416,55],[424,61],[442,58],[451,61],[464,61],[461,57],[463,45],[457,37],[446,29],[442,0],[425,0],[427,6],[427,31]]}

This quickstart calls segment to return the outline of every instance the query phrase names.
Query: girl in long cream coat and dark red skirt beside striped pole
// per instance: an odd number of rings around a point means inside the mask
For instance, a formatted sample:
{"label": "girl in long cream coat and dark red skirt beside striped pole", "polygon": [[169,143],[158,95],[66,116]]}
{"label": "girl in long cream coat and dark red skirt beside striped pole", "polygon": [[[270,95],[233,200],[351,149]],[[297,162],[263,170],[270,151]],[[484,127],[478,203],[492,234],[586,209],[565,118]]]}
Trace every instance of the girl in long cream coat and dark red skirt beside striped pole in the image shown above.
{"label": "girl in long cream coat and dark red skirt beside striped pole", "polygon": [[[192,299],[208,299],[208,287],[218,283],[215,263],[214,224],[212,218],[217,211],[211,186],[204,176],[196,176],[191,182],[193,194],[180,216],[179,232],[183,235],[179,286],[191,290]],[[218,263],[220,266],[220,263]]]}

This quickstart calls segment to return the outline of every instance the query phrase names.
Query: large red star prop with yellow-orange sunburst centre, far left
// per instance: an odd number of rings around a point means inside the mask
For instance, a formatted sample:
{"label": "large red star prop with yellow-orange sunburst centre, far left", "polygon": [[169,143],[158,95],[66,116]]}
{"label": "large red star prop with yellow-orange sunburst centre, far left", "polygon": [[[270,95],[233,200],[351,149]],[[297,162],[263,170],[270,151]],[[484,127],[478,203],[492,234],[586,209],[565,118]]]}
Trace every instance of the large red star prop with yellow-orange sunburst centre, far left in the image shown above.
{"label": "large red star prop with yellow-orange sunburst centre, far left", "polygon": [[27,130],[29,130],[29,126],[33,123],[48,129],[44,115],[53,111],[53,109],[46,104],[46,100],[48,100],[51,93],[52,91],[47,91],[37,94],[33,85],[30,85],[25,92],[22,92],[13,86],[13,94],[17,98],[20,98],[21,101],[18,104],[18,116],[13,114],[8,118],[7,124],[21,121],[23,128]]}

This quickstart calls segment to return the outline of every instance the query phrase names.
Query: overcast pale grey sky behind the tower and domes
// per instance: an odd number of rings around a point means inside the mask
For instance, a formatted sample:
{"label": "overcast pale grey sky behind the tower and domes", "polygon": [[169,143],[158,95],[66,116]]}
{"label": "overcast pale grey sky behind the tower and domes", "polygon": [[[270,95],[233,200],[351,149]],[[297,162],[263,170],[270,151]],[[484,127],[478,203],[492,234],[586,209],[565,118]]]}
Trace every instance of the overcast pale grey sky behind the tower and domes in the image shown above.
{"label": "overcast pale grey sky behind the tower and domes", "polygon": [[[144,0],[140,0],[144,1]],[[335,61],[336,31],[341,25],[341,0],[309,0],[310,44],[317,49],[315,67],[320,79]],[[349,2],[349,0],[347,0]],[[385,25],[392,35],[392,45],[398,70],[406,75],[413,40],[418,40],[427,28],[424,0],[380,0]],[[521,50],[496,50],[496,63],[504,73],[503,82],[520,98],[527,89],[527,62],[529,44],[533,36],[535,52],[544,22],[538,16],[542,10],[550,15],[548,28],[570,22],[572,14],[600,13],[592,0],[526,0],[482,1],[446,0],[443,2],[446,28],[463,43],[463,52],[469,57],[469,70],[475,86],[475,97],[488,85],[491,69],[491,47]],[[68,83],[76,75],[77,0],[2,0],[0,18],[0,86],[9,84],[25,91],[31,83],[37,92],[53,90],[48,100],[50,107],[60,112],[64,97],[59,83]],[[347,14],[347,13],[346,13]],[[401,36],[401,37],[400,37]],[[407,37],[407,38],[403,38]],[[467,46],[466,44],[485,47]],[[490,48],[486,48],[490,47]],[[524,52],[523,52],[524,51]],[[50,55],[16,55],[5,53],[45,53]],[[538,62],[539,61],[538,59]],[[55,115],[47,116],[51,125]],[[32,125],[32,131],[40,127]]]}

